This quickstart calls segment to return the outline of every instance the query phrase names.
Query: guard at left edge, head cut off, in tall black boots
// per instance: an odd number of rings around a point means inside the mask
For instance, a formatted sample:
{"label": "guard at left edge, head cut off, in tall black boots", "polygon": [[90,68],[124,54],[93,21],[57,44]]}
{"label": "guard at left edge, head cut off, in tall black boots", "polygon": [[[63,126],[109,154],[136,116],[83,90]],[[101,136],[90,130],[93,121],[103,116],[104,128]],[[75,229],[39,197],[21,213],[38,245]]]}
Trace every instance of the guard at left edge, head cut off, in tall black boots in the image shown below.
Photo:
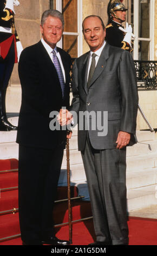
{"label": "guard at left edge, head cut off, in tall black boots", "polygon": [[14,24],[14,5],[17,0],[0,1],[0,131],[17,130],[6,117],[5,95],[14,63],[23,50]]}

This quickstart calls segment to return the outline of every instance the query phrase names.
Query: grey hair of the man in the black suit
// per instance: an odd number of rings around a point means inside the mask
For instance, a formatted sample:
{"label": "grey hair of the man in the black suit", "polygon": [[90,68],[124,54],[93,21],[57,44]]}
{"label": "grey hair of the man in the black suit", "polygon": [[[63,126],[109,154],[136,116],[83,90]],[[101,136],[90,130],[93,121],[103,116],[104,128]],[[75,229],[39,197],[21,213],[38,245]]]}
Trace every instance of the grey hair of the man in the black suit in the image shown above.
{"label": "grey hair of the man in the black suit", "polygon": [[41,26],[43,27],[44,23],[45,23],[45,20],[49,17],[57,17],[58,19],[61,20],[62,22],[62,26],[64,28],[64,17],[63,15],[60,13],[60,11],[58,10],[52,10],[52,9],[49,9],[49,10],[46,10],[43,12],[42,14],[42,18],[41,18]]}

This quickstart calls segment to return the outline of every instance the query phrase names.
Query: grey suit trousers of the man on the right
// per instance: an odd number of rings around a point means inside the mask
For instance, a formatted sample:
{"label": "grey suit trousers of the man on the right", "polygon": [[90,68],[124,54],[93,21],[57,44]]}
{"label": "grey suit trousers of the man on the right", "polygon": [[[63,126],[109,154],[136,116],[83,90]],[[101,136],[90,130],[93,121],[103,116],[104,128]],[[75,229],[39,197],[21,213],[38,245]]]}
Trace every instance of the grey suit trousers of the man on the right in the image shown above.
{"label": "grey suit trousers of the man on the right", "polygon": [[96,241],[112,245],[128,244],[126,148],[96,150],[87,136],[81,155]]}

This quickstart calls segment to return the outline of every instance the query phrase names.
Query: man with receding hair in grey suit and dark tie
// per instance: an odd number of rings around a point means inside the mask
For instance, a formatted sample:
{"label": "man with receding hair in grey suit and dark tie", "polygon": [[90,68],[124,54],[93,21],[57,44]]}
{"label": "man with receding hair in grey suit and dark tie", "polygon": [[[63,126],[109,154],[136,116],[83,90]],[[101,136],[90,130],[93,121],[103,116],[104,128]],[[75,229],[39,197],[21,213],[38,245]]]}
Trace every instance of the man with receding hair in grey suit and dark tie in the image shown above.
{"label": "man with receding hair in grey suit and dark tie", "polygon": [[[82,129],[78,118],[78,150],[93,212],[96,234],[93,244],[128,245],[126,146],[135,143],[138,111],[134,62],[129,52],[107,44],[99,16],[84,19],[83,35],[90,51],[77,58],[73,65],[70,112],[89,112],[84,115],[89,117],[88,131],[86,127]],[[103,114],[106,112],[108,132],[104,136],[99,127],[102,123],[106,125],[106,120],[101,118],[106,117]],[[90,125],[94,121],[91,113],[95,113],[99,123],[96,129]],[[69,112],[68,118],[71,118]]]}

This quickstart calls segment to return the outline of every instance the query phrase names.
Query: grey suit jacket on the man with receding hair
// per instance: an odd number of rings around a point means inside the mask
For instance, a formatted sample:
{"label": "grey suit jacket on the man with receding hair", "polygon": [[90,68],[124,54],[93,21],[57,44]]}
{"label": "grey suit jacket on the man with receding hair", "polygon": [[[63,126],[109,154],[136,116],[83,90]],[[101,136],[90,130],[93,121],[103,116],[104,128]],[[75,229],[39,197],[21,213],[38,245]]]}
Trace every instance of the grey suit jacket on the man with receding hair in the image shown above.
{"label": "grey suit jacket on the man with receding hair", "polygon": [[[73,65],[73,101],[71,111],[94,111],[102,114],[108,112],[108,133],[98,136],[100,128],[92,130],[89,138],[95,149],[116,148],[119,131],[132,133],[135,143],[136,115],[138,111],[138,92],[136,87],[135,67],[129,52],[106,43],[99,62],[87,88],[87,71],[90,52],[75,60]],[[86,131],[79,129],[78,120],[78,150],[83,150],[86,142]]]}

